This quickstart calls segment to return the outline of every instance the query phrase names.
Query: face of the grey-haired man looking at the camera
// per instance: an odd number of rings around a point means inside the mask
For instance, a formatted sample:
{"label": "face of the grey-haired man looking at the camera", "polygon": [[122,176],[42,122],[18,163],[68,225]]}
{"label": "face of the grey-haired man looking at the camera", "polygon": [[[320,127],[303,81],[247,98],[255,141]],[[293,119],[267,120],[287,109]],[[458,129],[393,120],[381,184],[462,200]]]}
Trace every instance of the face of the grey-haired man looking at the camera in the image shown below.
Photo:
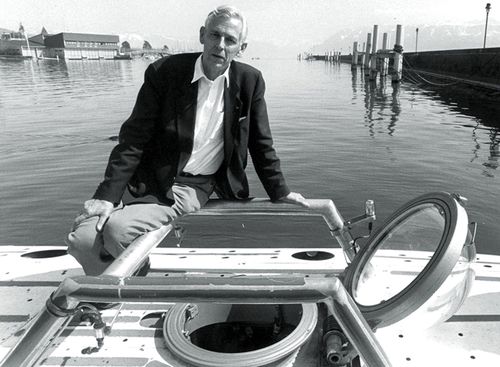
{"label": "face of the grey-haired man looking at the camera", "polygon": [[224,74],[238,52],[246,48],[241,42],[243,25],[238,18],[215,17],[200,29],[203,44],[203,70],[211,80]]}

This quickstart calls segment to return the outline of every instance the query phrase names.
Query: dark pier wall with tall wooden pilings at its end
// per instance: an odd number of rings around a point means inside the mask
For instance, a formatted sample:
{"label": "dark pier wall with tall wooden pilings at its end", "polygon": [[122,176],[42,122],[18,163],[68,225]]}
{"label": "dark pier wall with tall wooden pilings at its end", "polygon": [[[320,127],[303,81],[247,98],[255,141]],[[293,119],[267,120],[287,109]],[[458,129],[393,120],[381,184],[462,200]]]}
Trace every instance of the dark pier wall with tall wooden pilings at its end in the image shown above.
{"label": "dark pier wall with tall wooden pilings at its end", "polygon": [[397,25],[396,41],[390,48],[389,35],[383,33],[379,48],[378,25],[374,25],[362,47],[355,41],[348,55],[326,51],[323,55],[306,54],[300,59],[350,63],[353,69],[360,68],[370,81],[390,77],[392,82],[399,82],[404,77],[416,84],[451,83],[500,91],[500,47],[404,52],[402,34],[403,26]]}

